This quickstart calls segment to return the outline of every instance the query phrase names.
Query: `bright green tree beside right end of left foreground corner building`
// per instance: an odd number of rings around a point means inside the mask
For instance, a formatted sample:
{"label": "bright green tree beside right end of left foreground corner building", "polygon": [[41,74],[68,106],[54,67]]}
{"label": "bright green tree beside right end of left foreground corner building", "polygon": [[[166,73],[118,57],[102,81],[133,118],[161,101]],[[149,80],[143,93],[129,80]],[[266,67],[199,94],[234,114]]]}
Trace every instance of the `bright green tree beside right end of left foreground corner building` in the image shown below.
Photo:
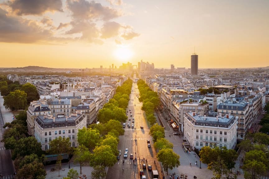
{"label": "bright green tree beside right end of left foreground corner building", "polygon": [[78,130],[77,141],[79,145],[84,145],[89,150],[94,149],[99,140],[100,134],[94,129],[86,129],[83,127],[82,129]]}

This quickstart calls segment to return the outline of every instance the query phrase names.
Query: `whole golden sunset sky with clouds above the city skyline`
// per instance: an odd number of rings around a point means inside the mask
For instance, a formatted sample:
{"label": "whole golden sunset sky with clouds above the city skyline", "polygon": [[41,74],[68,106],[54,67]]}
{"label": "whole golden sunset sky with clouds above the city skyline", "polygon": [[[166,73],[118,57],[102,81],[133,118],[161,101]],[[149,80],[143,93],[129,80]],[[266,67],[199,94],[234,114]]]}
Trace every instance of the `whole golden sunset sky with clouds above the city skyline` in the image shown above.
{"label": "whole golden sunset sky with clouds above the city skyline", "polygon": [[0,67],[269,66],[268,0],[0,0]]}

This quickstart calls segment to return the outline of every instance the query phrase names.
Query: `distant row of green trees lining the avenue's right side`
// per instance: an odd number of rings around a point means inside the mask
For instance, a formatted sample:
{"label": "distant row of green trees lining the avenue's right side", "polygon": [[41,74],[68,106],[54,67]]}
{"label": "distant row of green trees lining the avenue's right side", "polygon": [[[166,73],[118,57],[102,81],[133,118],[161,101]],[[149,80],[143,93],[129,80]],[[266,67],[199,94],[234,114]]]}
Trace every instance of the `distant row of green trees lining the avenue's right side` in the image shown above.
{"label": "distant row of green trees lining the avenue's right side", "polygon": [[150,125],[153,126],[156,122],[154,110],[159,105],[160,99],[158,97],[158,94],[152,91],[143,80],[138,80],[137,86],[140,93],[139,101],[143,102],[141,109],[145,112],[146,118]]}

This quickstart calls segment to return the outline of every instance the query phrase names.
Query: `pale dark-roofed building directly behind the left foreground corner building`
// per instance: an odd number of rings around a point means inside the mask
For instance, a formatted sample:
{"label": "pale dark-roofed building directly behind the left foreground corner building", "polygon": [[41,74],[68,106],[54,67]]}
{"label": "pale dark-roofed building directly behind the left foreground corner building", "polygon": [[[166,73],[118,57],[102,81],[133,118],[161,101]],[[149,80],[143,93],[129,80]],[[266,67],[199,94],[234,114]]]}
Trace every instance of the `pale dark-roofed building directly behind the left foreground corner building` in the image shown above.
{"label": "pale dark-roofed building directly behind the left foreground corner building", "polygon": [[32,101],[28,110],[27,114],[27,130],[29,135],[35,134],[35,118],[40,115],[50,115],[50,108],[49,105],[46,104],[44,100],[40,101]]}

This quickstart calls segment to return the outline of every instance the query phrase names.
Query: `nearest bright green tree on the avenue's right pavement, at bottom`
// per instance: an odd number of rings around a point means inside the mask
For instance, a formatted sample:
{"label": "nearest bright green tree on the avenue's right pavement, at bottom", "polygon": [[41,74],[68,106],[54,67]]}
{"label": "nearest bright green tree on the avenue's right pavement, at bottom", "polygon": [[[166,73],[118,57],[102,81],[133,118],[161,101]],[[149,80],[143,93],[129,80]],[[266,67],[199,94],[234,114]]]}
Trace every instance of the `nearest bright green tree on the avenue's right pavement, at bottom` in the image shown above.
{"label": "nearest bright green tree on the avenue's right pavement, at bottom", "polygon": [[157,154],[158,161],[162,163],[164,170],[167,172],[168,169],[172,170],[175,167],[179,167],[179,155],[174,153],[172,149],[161,149]]}

